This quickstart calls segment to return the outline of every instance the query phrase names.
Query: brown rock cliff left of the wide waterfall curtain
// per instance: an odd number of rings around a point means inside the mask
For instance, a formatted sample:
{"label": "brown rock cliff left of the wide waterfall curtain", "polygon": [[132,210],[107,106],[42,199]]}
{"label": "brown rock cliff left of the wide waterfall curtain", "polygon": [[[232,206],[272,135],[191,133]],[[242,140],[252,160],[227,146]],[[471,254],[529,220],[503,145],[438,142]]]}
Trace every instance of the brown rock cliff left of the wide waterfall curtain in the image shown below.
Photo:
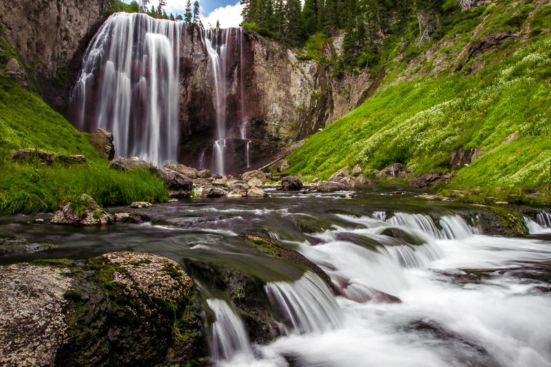
{"label": "brown rock cliff left of the wide waterfall curtain", "polygon": [[0,72],[64,111],[81,55],[108,0],[0,0]]}

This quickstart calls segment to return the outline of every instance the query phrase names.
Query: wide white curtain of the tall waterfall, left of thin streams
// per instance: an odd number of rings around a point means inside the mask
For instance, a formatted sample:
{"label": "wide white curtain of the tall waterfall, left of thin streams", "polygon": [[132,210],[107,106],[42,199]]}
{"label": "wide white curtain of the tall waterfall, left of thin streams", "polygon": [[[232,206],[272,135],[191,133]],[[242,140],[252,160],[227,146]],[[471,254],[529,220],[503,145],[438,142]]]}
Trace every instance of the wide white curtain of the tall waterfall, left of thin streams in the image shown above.
{"label": "wide white curtain of the tall waterfall, left of thin streams", "polygon": [[75,125],[113,133],[117,154],[163,165],[178,152],[183,22],[113,14],[88,45],[71,92]]}

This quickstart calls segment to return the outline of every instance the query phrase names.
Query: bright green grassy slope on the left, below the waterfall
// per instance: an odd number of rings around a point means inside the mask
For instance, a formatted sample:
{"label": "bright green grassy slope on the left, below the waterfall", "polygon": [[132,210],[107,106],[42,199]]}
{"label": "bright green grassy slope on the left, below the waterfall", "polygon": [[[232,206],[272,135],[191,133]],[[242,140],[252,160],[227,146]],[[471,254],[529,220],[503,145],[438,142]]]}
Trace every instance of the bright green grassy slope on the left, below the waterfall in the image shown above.
{"label": "bright green grassy slope on the left, below the waterfall", "polygon": [[[83,154],[87,164],[65,167],[13,163],[9,154],[21,148],[59,154]],[[85,134],[38,96],[0,76],[0,214],[57,209],[88,193],[100,205],[134,200],[165,200],[163,182],[147,171],[109,169]]]}

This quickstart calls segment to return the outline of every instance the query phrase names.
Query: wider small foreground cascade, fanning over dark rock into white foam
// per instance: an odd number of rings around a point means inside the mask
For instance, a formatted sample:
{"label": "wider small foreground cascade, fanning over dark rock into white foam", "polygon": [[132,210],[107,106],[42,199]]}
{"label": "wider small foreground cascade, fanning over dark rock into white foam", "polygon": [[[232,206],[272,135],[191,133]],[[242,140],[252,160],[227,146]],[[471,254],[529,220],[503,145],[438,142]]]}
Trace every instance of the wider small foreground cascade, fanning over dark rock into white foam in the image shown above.
{"label": "wider small foreground cascade, fanning over dark rock into white foam", "polygon": [[269,282],[264,290],[291,332],[326,331],[342,325],[342,311],[318,275],[308,272],[296,282]]}

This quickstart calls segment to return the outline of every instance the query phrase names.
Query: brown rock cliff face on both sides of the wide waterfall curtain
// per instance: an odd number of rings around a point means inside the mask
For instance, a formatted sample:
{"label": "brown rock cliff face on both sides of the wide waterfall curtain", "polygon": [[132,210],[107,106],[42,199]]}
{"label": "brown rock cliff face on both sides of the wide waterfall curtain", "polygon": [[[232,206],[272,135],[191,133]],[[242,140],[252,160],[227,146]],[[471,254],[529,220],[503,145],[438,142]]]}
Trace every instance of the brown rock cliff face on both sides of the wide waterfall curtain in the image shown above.
{"label": "brown rock cliff face on both sides of the wide waterfall curtain", "polygon": [[[82,56],[107,17],[108,0],[0,0],[0,72],[35,89],[71,116],[69,92]],[[227,168],[269,160],[278,149],[324,127],[361,103],[368,74],[335,78],[329,66],[299,61],[293,50],[241,30],[227,32],[224,89]],[[216,140],[216,83],[204,31],[180,36],[180,151],[185,164],[210,167]],[[340,40],[335,40],[338,52]],[[335,50],[328,46],[328,53]],[[94,102],[95,103],[95,102]],[[73,121],[74,123],[74,121]]]}

